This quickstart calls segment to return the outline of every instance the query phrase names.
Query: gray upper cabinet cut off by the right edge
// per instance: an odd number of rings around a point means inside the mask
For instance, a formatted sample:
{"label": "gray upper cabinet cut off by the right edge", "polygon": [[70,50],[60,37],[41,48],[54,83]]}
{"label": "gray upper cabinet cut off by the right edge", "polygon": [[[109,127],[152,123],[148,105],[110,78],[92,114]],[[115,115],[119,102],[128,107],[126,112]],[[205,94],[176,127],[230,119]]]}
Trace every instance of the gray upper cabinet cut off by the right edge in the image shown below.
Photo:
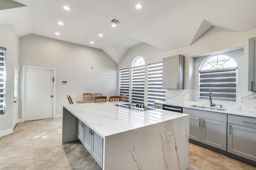
{"label": "gray upper cabinet cut off by the right edge", "polygon": [[249,39],[248,91],[256,91],[256,37]]}

